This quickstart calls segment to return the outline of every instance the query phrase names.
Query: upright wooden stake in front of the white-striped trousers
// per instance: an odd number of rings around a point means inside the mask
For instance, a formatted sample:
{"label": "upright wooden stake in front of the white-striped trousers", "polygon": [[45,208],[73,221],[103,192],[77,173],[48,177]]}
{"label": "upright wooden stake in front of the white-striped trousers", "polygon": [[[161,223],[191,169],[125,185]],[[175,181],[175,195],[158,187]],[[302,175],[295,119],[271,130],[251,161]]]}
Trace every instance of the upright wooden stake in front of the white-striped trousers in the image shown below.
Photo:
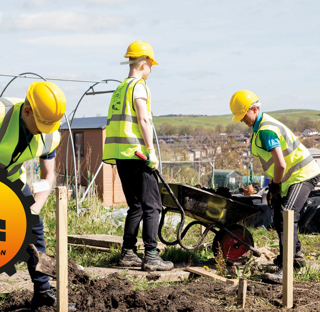
{"label": "upright wooden stake in front of the white-striped trousers", "polygon": [[294,211],[283,211],[283,306],[293,307]]}

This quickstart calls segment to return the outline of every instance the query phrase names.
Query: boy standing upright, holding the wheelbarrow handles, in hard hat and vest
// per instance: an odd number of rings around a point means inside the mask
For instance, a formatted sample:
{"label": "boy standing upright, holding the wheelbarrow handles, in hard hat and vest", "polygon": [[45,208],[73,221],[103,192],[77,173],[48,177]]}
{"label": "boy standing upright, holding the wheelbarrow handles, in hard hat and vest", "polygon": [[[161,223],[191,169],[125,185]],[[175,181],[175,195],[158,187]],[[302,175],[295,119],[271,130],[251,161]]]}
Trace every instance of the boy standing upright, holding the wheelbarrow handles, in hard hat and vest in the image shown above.
{"label": "boy standing upright, holding the wheelbarrow handles, in hard hat and vest", "polygon": [[[159,214],[162,210],[158,180],[153,170],[158,159],[153,146],[151,93],[146,80],[154,60],[152,47],[135,41],[127,49],[129,75],[113,93],[106,126],[103,161],[116,164],[123,192],[129,205],[125,221],[120,266],[142,267],[146,271],[171,270],[173,263],[163,261],[157,249]],[[135,152],[148,156],[144,163]],[[143,220],[145,257],[137,254],[137,235]]]}

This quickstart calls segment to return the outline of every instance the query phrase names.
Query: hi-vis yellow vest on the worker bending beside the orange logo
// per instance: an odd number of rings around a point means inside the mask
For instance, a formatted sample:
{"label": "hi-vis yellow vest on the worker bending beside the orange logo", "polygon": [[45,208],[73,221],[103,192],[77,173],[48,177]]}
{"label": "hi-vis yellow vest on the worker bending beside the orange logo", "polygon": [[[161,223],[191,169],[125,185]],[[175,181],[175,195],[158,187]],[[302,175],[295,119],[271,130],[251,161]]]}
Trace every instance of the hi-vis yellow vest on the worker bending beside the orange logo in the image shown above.
{"label": "hi-vis yellow vest on the worker bending beside the orange logo", "polygon": [[6,98],[0,98],[0,168],[5,168],[8,172],[8,179],[16,181],[21,179],[26,183],[26,171],[22,166],[25,161],[51,153],[60,142],[60,133],[36,134],[33,136],[29,147],[16,156],[16,160],[8,167],[12,155],[19,141],[19,118],[20,108],[23,102],[13,104]]}

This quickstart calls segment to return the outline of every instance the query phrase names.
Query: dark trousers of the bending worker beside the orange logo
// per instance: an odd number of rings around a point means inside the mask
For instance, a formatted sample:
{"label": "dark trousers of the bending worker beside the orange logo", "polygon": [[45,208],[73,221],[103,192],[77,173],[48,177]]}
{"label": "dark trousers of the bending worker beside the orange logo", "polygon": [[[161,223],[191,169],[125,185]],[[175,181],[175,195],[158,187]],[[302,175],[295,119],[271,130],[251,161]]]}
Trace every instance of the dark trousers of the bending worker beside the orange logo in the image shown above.
{"label": "dark trousers of the bending worker beside the orange logo", "polygon": [[[29,185],[26,184],[25,188],[22,190],[24,196],[32,196],[32,192],[29,188]],[[43,233],[43,222],[41,217],[39,216],[39,223],[33,225],[32,233],[37,235],[38,240],[34,244],[38,251],[46,252],[46,246],[44,244],[44,233]],[[28,271],[33,282],[34,291],[46,290],[50,288],[49,284],[49,276],[45,275],[41,272],[36,271],[36,266],[38,263],[37,258],[33,255],[32,252],[28,250],[30,254],[30,258],[27,262],[28,264]]]}

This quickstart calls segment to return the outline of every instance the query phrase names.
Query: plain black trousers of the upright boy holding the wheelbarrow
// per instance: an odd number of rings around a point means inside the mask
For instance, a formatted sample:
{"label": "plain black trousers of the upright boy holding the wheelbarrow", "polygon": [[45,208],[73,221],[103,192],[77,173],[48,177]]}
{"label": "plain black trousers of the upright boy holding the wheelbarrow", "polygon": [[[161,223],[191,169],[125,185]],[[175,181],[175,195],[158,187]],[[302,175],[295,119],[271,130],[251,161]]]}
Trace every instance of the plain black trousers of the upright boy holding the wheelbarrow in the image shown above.
{"label": "plain black trousers of the upright boy holding the wheelbarrow", "polygon": [[145,250],[157,247],[159,215],[162,210],[159,184],[155,172],[142,160],[117,159],[117,169],[129,210],[126,217],[123,247],[133,248],[137,243],[140,221]]}

